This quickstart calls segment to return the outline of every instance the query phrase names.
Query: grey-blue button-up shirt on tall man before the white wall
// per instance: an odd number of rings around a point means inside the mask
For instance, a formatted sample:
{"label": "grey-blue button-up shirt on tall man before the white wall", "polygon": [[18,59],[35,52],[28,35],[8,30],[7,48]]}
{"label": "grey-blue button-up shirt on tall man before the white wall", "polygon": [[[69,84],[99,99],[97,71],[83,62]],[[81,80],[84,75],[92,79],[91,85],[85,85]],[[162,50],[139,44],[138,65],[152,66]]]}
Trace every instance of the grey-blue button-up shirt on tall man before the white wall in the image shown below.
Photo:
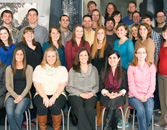
{"label": "grey-blue button-up shirt on tall man before the white wall", "polygon": [[[17,40],[18,43],[22,41],[22,32],[26,27],[31,27],[31,26],[27,25],[20,30],[19,37]],[[39,24],[37,24],[37,26],[34,28],[35,41],[39,42],[41,46],[43,46],[44,42],[48,41],[48,34],[49,34],[48,30]]]}

